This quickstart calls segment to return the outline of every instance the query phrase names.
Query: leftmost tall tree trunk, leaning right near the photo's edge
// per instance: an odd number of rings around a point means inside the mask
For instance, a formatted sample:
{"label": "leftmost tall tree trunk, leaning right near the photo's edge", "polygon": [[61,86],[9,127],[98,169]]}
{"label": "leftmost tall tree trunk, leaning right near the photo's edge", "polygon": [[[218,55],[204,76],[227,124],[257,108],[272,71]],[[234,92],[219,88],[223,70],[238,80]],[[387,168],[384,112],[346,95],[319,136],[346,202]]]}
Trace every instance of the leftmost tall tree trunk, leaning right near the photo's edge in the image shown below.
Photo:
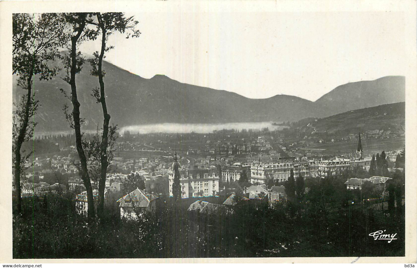
{"label": "leftmost tall tree trunk, leaning right near the photo's edge", "polygon": [[16,187],[16,198],[17,198],[17,209],[18,213],[22,212],[22,189],[20,187],[20,171],[21,171],[21,164],[22,156],[20,154],[20,149],[22,148],[22,144],[25,141],[26,132],[28,130],[29,125],[29,109],[32,106],[32,77],[33,77],[33,67],[30,69],[30,73],[28,74],[28,93],[25,105],[25,114],[23,117],[23,122],[19,128],[18,139],[16,141],[15,147],[15,187]]}

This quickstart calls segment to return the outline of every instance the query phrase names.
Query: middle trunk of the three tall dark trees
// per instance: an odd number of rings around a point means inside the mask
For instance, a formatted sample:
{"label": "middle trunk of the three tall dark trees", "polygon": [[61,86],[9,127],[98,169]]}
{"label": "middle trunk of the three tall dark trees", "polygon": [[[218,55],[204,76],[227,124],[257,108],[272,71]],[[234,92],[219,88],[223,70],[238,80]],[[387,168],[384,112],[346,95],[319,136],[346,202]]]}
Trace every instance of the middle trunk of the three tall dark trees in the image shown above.
{"label": "middle trunk of the three tall dark trees", "polygon": [[88,203],[88,218],[94,218],[94,197],[93,188],[91,187],[90,176],[87,169],[87,158],[82,144],[81,125],[80,125],[80,102],[77,98],[77,87],[75,85],[75,74],[77,72],[77,41],[85,27],[85,22],[82,22],[77,35],[71,37],[71,71],[70,71],[70,85],[71,85],[71,102],[73,103],[73,119],[75,129],[75,144],[80,158],[80,176],[83,179],[85,190],[87,191]]}

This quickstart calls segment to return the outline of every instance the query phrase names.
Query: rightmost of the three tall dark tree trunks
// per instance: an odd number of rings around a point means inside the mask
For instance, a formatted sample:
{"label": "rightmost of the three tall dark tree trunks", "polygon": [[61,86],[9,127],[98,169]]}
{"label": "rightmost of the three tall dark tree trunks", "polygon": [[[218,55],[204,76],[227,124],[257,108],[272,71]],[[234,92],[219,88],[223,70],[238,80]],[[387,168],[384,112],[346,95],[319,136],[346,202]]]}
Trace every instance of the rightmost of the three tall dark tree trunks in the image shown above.
{"label": "rightmost of the three tall dark tree trunks", "polygon": [[97,15],[98,22],[102,32],[101,38],[101,51],[98,57],[98,82],[100,84],[100,103],[103,109],[103,136],[101,137],[101,144],[100,144],[100,182],[98,185],[98,215],[99,217],[103,216],[104,213],[104,188],[106,185],[106,177],[107,177],[107,167],[108,167],[108,154],[107,154],[107,147],[108,147],[108,126],[110,123],[110,114],[107,112],[107,105],[106,105],[106,95],[104,93],[104,81],[103,81],[103,57],[104,52],[106,50],[106,28],[103,25],[103,21],[101,19],[100,13]]}

